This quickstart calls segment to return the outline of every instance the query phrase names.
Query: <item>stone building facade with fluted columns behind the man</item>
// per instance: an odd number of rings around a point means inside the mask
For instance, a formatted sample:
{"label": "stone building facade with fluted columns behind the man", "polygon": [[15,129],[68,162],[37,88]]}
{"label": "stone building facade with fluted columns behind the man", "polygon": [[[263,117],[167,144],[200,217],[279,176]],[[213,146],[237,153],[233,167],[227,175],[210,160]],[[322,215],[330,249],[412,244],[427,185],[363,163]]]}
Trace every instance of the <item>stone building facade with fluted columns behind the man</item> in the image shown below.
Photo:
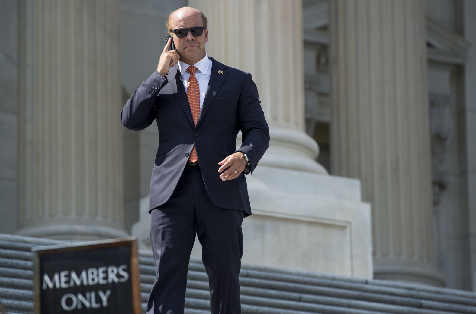
{"label": "stone building facade with fluted columns behind the man", "polygon": [[0,233],[149,246],[119,111],[188,4],[270,124],[244,262],[476,289],[473,0],[0,0]]}

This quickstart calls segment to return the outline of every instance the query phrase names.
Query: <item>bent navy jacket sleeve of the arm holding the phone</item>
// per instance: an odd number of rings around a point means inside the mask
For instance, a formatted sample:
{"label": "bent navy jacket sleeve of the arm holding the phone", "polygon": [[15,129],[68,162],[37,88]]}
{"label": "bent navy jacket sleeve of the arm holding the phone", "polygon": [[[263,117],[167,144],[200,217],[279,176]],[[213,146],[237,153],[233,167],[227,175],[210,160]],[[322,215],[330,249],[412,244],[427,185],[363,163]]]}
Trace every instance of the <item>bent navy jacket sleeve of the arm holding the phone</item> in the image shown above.
{"label": "bent navy jacket sleeve of the arm holding the phone", "polygon": [[167,85],[167,77],[154,71],[148,79],[132,93],[120,112],[122,124],[129,130],[140,131],[148,127],[156,118],[154,102],[160,89]]}

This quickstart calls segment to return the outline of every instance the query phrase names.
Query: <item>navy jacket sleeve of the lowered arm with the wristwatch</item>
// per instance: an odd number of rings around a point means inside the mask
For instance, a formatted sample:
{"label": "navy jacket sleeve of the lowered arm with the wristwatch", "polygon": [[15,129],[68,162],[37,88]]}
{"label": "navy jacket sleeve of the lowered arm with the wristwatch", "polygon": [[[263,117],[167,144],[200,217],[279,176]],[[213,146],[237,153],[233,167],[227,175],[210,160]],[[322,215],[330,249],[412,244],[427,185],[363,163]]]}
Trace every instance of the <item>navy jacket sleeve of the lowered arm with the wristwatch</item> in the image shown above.
{"label": "navy jacket sleeve of the lowered arm with the wristwatch", "polygon": [[260,104],[258,88],[253,82],[251,74],[248,73],[238,100],[238,123],[243,134],[243,143],[237,152],[244,152],[248,155],[251,165],[249,174],[253,173],[269,145],[268,123]]}

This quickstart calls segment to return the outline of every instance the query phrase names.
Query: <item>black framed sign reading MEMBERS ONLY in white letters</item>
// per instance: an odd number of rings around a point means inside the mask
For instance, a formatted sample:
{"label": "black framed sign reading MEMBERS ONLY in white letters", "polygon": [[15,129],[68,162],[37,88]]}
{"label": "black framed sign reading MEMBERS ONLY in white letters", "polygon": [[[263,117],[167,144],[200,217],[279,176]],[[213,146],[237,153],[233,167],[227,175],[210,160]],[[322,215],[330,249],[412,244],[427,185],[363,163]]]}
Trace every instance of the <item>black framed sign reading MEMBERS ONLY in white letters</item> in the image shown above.
{"label": "black framed sign reading MEMBERS ONLY in white letters", "polygon": [[35,314],[140,314],[137,240],[33,247]]}

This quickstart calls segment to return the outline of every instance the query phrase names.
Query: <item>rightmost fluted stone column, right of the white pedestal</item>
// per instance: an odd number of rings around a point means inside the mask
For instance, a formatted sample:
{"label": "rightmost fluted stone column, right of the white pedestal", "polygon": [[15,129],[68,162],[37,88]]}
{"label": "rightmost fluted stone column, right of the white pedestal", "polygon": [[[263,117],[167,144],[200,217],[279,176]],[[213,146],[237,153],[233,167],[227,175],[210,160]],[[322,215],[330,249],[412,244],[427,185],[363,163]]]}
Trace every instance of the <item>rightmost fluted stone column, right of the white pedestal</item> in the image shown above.
{"label": "rightmost fluted stone column, right of the white pedestal", "polygon": [[424,0],[330,1],[332,171],[372,204],[374,276],[436,271]]}

